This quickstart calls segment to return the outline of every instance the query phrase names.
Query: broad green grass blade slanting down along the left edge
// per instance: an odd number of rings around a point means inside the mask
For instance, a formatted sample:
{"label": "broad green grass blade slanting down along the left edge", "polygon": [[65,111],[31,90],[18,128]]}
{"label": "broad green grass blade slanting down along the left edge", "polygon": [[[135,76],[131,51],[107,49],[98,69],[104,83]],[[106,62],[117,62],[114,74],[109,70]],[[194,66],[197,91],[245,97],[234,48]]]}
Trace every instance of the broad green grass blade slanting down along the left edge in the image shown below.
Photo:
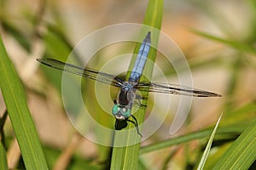
{"label": "broad green grass blade slanting down along the left edge", "polygon": [[48,169],[26,95],[0,37],[0,86],[26,169]]}

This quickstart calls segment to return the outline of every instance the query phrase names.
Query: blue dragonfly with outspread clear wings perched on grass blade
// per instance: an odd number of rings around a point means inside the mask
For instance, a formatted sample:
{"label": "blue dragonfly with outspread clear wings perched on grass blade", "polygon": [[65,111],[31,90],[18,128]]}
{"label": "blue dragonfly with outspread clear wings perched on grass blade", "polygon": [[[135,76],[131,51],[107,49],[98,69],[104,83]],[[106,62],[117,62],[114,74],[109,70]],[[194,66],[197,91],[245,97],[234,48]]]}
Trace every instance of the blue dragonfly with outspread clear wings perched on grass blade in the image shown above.
{"label": "blue dragonfly with outspread clear wings perched on grass blade", "polygon": [[[138,129],[137,118],[131,114],[132,105],[135,103],[136,99],[139,99],[139,96],[137,96],[136,94],[137,90],[142,92],[146,91],[162,94],[178,94],[194,97],[221,97],[220,94],[208,92],[201,89],[190,88],[179,84],[140,81],[140,78],[143,75],[143,69],[148,59],[148,53],[150,50],[150,35],[151,32],[148,31],[147,36],[141,43],[141,46],[137,54],[137,59],[131,70],[131,75],[128,78],[128,81],[125,81],[119,77],[108,74],[106,72],[97,71],[91,68],[81,68],[77,65],[64,63],[57,59],[46,58],[37,60],[41,64],[47,65],[56,70],[66,71],[72,74],[76,74],[119,88],[118,97],[117,99],[113,100],[114,105],[112,109],[112,114],[116,119],[114,127],[116,130],[121,130],[127,127],[127,122],[131,122],[137,128],[137,133],[142,137],[142,133],[140,133]],[[147,105],[140,106],[146,107]]]}

